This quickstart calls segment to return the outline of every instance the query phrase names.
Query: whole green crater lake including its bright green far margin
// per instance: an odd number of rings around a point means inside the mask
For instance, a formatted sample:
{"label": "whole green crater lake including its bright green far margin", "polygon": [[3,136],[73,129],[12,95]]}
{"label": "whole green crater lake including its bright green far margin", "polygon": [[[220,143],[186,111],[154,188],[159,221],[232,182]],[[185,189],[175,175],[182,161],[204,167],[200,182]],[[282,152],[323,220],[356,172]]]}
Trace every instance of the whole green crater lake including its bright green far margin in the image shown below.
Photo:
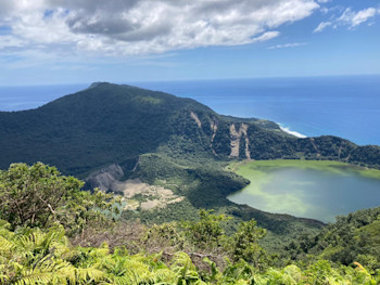
{"label": "whole green crater lake including its bright green far margin", "polygon": [[332,222],[380,206],[380,170],[321,160],[257,160],[231,168],[251,183],[227,198],[259,210]]}

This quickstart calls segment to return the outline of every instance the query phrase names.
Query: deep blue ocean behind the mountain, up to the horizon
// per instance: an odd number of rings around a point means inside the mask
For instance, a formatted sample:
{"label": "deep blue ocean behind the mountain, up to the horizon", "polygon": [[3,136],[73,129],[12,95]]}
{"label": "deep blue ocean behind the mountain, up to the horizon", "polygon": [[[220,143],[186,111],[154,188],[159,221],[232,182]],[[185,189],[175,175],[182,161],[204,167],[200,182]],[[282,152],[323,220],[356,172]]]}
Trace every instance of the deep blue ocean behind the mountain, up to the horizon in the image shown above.
{"label": "deep blue ocean behind the mountain, up to the horizon", "polygon": [[[225,115],[274,120],[307,137],[380,145],[380,76],[123,83],[192,98]],[[35,108],[88,86],[0,87],[0,111]]]}

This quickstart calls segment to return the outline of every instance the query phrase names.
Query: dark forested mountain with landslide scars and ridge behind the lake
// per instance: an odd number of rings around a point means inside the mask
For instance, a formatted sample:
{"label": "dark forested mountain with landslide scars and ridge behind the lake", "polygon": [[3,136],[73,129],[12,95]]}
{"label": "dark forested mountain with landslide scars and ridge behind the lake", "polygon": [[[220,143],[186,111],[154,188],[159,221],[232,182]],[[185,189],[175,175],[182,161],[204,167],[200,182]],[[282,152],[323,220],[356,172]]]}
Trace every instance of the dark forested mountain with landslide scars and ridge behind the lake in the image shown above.
{"label": "dark forested mountain with landslide scars and ridge behind the lake", "polygon": [[[0,113],[0,167],[37,160],[81,178],[142,154],[173,158],[328,158],[380,166],[380,147],[334,137],[297,139],[274,122],[221,116],[190,99],[93,83],[37,109]],[[197,160],[197,159],[195,159]]]}

